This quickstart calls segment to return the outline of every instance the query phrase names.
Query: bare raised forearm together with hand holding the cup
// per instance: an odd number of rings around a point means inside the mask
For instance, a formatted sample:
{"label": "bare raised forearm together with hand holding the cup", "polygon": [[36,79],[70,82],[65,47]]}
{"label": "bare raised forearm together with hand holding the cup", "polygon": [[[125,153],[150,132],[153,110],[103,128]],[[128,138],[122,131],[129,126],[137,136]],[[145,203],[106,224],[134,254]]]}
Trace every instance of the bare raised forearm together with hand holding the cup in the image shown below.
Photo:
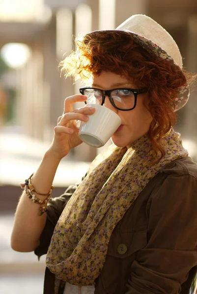
{"label": "bare raised forearm together with hand holding the cup", "polygon": [[[95,109],[82,107],[73,110],[73,103],[85,100],[86,97],[83,95],[74,95],[65,99],[63,115],[58,118],[54,128],[53,142],[31,179],[31,184],[37,192],[49,193],[61,158],[66,156],[70,149],[82,143],[76,120],[86,122],[87,115],[93,114]],[[34,194],[42,201],[46,199],[46,196]],[[24,192],[16,210],[11,236],[12,248],[22,252],[37,248],[45,223],[46,214],[39,216],[39,204],[33,203]]]}

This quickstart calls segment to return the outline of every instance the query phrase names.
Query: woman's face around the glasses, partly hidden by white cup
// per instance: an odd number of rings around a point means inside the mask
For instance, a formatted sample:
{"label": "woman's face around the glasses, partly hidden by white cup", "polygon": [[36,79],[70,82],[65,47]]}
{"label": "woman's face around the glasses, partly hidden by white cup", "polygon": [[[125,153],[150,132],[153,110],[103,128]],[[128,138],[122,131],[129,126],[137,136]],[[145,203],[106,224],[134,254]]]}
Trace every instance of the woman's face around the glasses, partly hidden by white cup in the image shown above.
{"label": "woman's face around the glasses, partly hidden by white cup", "polygon": [[[92,87],[111,90],[114,88],[138,89],[134,83],[121,77],[119,74],[102,72],[99,76],[93,76]],[[148,132],[152,117],[150,112],[143,105],[147,94],[140,94],[137,98],[137,105],[133,110],[121,111],[113,107],[108,97],[105,98],[104,106],[113,110],[121,118],[122,124],[112,135],[113,143],[118,147],[130,146],[137,139]]]}

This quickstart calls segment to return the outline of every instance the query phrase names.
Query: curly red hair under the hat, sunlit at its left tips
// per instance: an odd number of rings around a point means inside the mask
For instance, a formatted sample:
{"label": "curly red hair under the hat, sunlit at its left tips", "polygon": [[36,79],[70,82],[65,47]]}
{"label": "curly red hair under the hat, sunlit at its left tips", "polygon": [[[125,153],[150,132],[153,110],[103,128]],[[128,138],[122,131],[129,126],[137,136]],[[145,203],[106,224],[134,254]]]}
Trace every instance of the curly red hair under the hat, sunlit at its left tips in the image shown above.
{"label": "curly red hair under the hat, sunlit at its left tips", "polygon": [[93,74],[113,72],[134,81],[138,88],[147,89],[149,98],[144,106],[153,118],[148,137],[153,151],[160,151],[162,158],[165,150],[160,141],[176,123],[174,99],[189,75],[143,49],[129,32],[96,31],[77,39],[76,44],[77,51],[60,62],[65,77],[91,81]]}

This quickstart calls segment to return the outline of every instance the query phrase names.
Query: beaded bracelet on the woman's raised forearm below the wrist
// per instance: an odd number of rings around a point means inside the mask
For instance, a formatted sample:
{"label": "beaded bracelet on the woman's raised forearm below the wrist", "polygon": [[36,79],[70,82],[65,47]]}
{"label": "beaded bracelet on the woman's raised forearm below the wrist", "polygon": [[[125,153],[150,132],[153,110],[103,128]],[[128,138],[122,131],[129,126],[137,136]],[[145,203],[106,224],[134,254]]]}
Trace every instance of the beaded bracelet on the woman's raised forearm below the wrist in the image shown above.
{"label": "beaded bracelet on the woman's raised forearm below the wrist", "polygon": [[[21,184],[21,188],[25,190],[26,194],[28,195],[28,198],[32,202],[41,205],[40,206],[40,213],[39,213],[39,215],[41,216],[43,213],[46,213],[47,210],[48,210],[48,208],[47,208],[47,202],[51,198],[51,195],[52,195],[52,191],[54,189],[54,186],[53,185],[51,186],[51,189],[50,189],[49,193],[46,193],[46,194],[39,193],[39,192],[37,192],[34,189],[33,185],[31,184],[32,175],[33,175],[33,173],[30,175],[30,177],[28,179],[25,180],[25,183],[24,184]],[[33,193],[36,193],[36,194],[42,195],[42,196],[47,196],[47,197],[44,200],[40,200]]]}

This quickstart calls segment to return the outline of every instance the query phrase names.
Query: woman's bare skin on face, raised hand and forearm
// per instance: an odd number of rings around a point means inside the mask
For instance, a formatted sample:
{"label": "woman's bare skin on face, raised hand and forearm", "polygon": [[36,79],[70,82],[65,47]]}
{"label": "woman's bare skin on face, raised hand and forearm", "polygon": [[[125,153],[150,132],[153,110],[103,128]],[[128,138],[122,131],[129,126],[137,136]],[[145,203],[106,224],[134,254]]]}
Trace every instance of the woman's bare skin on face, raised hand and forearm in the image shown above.
{"label": "woman's bare skin on face, raised hand and forearm", "polygon": [[[124,87],[137,89],[136,85],[126,78],[111,72],[102,72],[99,76],[95,75],[92,87],[103,90]],[[146,98],[146,93],[141,94],[138,96],[135,109],[120,111],[114,108],[106,97],[104,107],[113,110],[122,121],[120,128],[112,136],[112,141],[116,146],[130,146],[147,133],[152,118],[143,105],[143,100]],[[63,114],[58,118],[57,125],[54,128],[53,142],[32,177],[32,184],[36,191],[43,194],[49,192],[61,159],[69,153],[70,149],[82,143],[78,136],[79,130],[76,127],[76,120],[87,122],[87,115],[93,114],[95,109],[84,106],[73,110],[73,104],[85,100],[86,97],[82,95],[74,95],[65,99]],[[41,200],[45,199],[45,196],[36,196]],[[39,245],[39,238],[46,222],[46,214],[39,216],[38,211],[39,205],[33,203],[23,192],[17,206],[11,236],[11,246],[14,250],[29,252],[35,250]]]}

